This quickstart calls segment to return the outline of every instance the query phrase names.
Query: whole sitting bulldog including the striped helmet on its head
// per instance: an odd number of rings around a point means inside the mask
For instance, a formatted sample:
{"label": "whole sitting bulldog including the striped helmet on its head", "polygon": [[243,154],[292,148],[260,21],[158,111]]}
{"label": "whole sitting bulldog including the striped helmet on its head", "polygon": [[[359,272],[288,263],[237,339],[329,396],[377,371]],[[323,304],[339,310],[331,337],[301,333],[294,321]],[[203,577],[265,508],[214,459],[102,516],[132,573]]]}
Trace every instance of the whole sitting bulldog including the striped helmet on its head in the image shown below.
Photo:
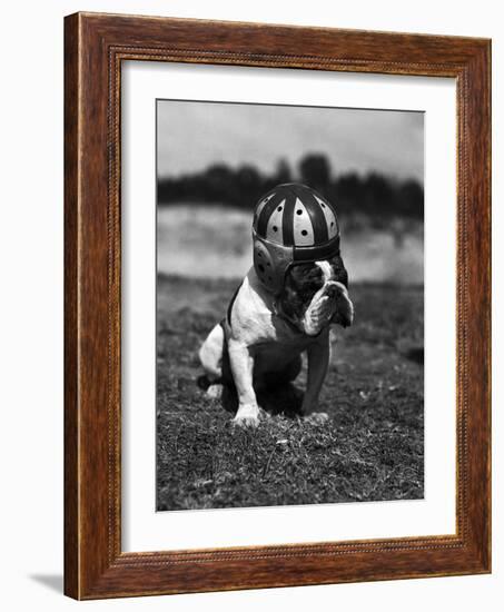
{"label": "whole sitting bulldog including the striped helmet on its head", "polygon": [[347,327],[354,318],[336,213],[305,185],[279,185],[256,206],[253,240],[254,265],[199,351],[202,386],[214,397],[223,386],[236,389],[234,422],[257,426],[257,394],[291,383],[306,353],[300,413],[324,421],[317,406],[330,358],[329,326]]}

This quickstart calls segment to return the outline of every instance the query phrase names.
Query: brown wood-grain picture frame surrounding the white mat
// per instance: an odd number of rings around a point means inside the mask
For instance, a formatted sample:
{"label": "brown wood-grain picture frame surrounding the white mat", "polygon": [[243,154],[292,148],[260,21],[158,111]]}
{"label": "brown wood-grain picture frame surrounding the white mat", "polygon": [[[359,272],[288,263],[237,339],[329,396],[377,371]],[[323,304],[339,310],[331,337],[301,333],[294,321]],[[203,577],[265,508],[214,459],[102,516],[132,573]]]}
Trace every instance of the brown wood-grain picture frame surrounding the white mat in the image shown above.
{"label": "brown wood-grain picture frame surrounding the white mat", "polygon": [[[65,592],[76,599],[485,573],[490,533],[490,41],[78,13],[65,28]],[[122,553],[122,60],[457,82],[456,534]]]}

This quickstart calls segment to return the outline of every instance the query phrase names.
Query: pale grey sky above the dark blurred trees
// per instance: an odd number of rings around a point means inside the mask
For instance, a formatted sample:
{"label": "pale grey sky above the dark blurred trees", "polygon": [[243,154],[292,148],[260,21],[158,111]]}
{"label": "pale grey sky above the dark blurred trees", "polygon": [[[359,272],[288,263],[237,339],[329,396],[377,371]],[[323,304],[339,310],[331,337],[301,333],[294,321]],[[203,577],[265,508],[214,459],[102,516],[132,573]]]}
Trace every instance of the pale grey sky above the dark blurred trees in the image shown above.
{"label": "pale grey sky above the dark blurred trees", "polygon": [[424,179],[424,113],[199,101],[158,101],[158,175],[176,177],[225,162],[271,172],[327,155],[335,176],[377,171]]}

